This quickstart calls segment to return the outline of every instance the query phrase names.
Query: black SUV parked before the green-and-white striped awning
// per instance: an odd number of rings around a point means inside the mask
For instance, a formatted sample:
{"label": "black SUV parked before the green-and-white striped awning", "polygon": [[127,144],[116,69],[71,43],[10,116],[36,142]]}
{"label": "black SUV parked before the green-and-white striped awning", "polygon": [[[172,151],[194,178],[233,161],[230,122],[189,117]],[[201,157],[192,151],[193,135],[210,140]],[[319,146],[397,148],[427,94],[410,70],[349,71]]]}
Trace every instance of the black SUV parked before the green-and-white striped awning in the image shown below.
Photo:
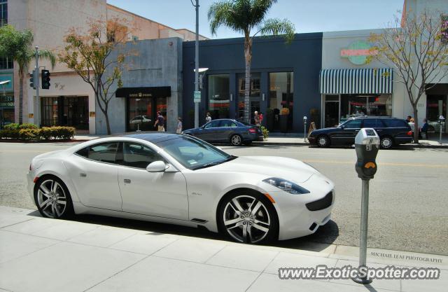
{"label": "black SUV parked before the green-and-white striped awning", "polygon": [[330,145],[353,145],[355,137],[363,127],[372,127],[381,139],[381,148],[412,143],[412,131],[406,120],[390,117],[360,116],[349,118],[337,127],[314,130],[309,134],[309,143],[319,147]]}

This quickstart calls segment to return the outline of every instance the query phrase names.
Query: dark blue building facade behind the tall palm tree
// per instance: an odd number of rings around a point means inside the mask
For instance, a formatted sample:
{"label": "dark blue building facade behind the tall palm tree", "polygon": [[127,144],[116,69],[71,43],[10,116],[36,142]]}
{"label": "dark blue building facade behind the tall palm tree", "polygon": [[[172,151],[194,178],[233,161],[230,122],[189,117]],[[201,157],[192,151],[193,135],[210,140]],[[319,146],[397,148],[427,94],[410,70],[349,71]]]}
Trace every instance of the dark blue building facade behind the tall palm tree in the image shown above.
{"label": "dark blue building facade behind the tall palm tree", "polygon": [[[296,34],[253,41],[250,113],[263,113],[262,125],[274,132],[303,132],[303,117],[320,126],[319,71],[322,34]],[[195,42],[183,42],[184,128],[193,127]],[[241,118],[244,112],[244,39],[200,41],[202,78],[200,125],[212,118]]]}

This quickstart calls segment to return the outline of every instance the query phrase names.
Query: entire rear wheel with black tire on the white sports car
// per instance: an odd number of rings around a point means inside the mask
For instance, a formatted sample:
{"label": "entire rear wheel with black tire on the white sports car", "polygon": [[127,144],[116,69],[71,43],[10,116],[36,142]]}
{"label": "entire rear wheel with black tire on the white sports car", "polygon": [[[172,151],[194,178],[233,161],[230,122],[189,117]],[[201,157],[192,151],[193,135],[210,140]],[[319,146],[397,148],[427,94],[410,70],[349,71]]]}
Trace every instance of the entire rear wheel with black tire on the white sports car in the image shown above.
{"label": "entire rear wheel with black tire on the white sports car", "polygon": [[34,186],[34,202],[46,218],[71,218],[74,214],[69,189],[57,176],[45,175],[38,179]]}

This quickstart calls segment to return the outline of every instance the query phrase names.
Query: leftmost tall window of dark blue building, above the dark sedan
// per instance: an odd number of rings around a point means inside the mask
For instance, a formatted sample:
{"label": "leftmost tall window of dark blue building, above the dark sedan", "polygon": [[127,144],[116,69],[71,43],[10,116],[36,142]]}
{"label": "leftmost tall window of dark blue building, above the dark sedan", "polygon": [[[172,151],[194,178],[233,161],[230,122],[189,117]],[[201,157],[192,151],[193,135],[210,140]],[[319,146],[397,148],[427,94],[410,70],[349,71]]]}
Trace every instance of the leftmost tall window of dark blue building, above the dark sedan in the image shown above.
{"label": "leftmost tall window of dark blue building, above the dark sedan", "polygon": [[229,74],[209,75],[209,113],[211,118],[230,117]]}

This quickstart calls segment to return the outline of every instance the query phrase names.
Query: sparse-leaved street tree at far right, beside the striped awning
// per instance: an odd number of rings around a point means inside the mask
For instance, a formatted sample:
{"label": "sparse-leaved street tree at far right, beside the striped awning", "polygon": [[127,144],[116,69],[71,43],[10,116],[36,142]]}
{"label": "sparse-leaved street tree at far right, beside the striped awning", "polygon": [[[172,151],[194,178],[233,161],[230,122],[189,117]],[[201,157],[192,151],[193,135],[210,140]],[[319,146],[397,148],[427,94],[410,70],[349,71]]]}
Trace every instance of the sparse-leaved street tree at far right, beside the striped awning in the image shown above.
{"label": "sparse-leaved street tree at far right, beside the striped awning", "polygon": [[441,20],[440,13],[409,13],[403,20],[395,17],[392,28],[372,34],[370,41],[374,43],[372,50],[378,52],[374,58],[387,66],[392,64],[400,77],[395,82],[405,85],[414,111],[414,141],[419,143],[420,97],[448,76],[448,21]]}

